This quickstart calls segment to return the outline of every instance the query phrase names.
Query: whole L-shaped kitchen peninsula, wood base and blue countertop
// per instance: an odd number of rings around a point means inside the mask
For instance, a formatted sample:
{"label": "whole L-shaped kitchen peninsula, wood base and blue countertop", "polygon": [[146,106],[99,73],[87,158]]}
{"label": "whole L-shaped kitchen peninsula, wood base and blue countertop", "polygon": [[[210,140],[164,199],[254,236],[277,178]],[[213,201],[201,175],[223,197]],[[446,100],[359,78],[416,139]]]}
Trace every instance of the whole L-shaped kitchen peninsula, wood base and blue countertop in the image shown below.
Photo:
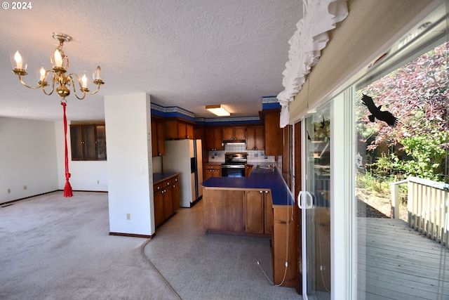
{"label": "whole L-shaped kitchen peninsula, wood base and blue countertop", "polygon": [[208,233],[271,237],[274,284],[295,286],[295,203],[280,172],[260,166],[248,177],[210,177],[201,185]]}

